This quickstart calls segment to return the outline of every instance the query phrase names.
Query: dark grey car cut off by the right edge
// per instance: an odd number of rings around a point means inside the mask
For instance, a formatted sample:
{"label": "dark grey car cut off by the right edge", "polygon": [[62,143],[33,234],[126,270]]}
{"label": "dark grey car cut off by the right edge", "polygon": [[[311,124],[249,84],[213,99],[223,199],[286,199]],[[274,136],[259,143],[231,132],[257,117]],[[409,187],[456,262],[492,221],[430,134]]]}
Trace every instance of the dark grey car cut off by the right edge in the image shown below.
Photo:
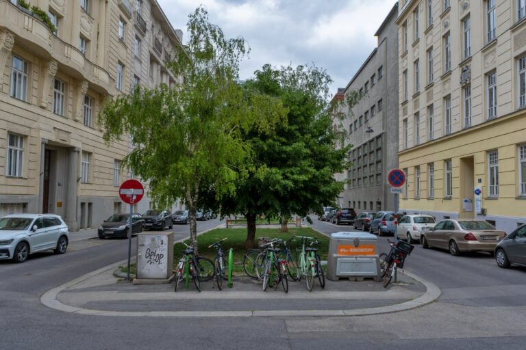
{"label": "dark grey car cut off by the right edge", "polygon": [[526,267],[526,224],[508,234],[495,247],[495,260],[499,267],[521,265]]}

